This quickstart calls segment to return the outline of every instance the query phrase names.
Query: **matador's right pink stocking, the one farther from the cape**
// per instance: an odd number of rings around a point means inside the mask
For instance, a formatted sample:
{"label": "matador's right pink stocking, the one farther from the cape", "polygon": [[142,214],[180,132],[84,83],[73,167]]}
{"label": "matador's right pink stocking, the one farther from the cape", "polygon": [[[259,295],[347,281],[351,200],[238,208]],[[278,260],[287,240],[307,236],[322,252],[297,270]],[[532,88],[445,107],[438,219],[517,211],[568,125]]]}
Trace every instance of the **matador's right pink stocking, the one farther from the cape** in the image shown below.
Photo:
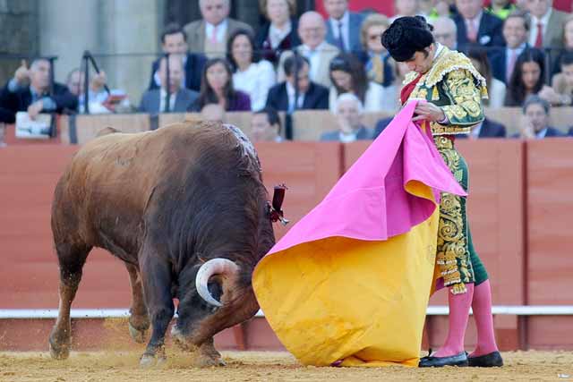
{"label": "matador's right pink stocking, the one farther from the cape", "polygon": [[493,332],[492,286],[490,285],[490,280],[475,286],[472,309],[474,310],[475,326],[477,327],[477,346],[475,346],[475,351],[470,356],[477,357],[496,352],[498,346],[495,344]]}

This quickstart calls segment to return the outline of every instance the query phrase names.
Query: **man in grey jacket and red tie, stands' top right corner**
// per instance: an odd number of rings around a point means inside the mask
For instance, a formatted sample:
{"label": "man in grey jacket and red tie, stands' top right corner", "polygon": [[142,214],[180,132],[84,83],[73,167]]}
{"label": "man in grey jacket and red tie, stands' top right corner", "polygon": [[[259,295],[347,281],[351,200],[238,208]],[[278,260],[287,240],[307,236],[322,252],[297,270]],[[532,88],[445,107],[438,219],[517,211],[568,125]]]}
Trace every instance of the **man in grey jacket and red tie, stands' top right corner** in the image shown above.
{"label": "man in grey jacket and red tie, stands' top right corner", "polygon": [[526,1],[531,15],[529,45],[532,47],[563,47],[563,24],[568,13],[554,9],[552,3],[552,0]]}

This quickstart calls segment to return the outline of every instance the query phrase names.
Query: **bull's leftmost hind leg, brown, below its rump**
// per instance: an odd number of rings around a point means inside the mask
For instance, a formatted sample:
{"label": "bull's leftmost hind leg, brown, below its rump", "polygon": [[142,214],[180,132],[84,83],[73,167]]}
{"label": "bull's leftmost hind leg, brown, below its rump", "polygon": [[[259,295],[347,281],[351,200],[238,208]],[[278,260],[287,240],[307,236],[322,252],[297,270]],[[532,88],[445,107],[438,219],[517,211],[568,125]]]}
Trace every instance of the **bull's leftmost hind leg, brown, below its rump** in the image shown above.
{"label": "bull's leftmost hind leg, brown, below its rump", "polygon": [[64,360],[70,355],[71,332],[70,307],[81,281],[81,270],[88,258],[91,247],[68,243],[56,244],[60,265],[60,303],[56,325],[50,334],[50,354],[56,360]]}

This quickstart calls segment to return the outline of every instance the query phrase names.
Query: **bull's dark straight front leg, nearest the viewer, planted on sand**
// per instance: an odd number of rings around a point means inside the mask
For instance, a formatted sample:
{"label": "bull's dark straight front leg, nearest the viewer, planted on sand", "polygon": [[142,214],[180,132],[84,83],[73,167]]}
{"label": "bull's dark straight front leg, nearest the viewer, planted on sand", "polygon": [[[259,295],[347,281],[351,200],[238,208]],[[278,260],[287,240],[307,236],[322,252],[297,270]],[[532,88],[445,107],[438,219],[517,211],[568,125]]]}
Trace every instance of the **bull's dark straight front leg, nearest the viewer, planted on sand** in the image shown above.
{"label": "bull's dark straight front leg, nearest the viewer, planted on sand", "polygon": [[140,257],[141,280],[145,301],[151,320],[151,339],[140,365],[155,366],[167,360],[165,334],[175,313],[171,295],[171,268],[167,260],[160,259],[157,252],[142,253]]}

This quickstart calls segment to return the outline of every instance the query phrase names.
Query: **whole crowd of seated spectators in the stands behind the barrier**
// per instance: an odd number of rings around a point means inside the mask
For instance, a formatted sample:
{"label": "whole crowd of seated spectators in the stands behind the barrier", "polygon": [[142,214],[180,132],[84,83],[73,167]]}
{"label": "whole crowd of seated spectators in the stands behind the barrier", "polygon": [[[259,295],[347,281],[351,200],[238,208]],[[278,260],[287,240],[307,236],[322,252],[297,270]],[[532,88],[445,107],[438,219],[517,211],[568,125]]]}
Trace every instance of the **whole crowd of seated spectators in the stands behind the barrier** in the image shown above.
{"label": "whole crowd of seated spectators in the stands behind the barrier", "polygon": [[[381,34],[392,20],[412,15],[433,25],[437,42],[470,57],[488,83],[484,106],[523,109],[520,137],[561,135],[543,115],[573,106],[573,14],[554,9],[552,0],[394,0],[389,16],[350,12],[348,0],[319,0],[326,17],[309,11],[298,18],[295,0],[261,0],[267,21],[257,30],[229,17],[231,1],[199,0],[201,20],[167,25],[160,36],[165,55],[152,64],[137,107],[121,89],[104,90],[105,72],[92,76],[90,113],[137,108],[224,119],[252,111],[257,139],[279,141],[277,112],[323,109],[336,115],[338,130],[322,140],[372,139],[389,120],[369,129],[363,113],[396,112],[408,71],[382,47]],[[18,111],[33,118],[86,110],[84,73],[74,69],[66,84],[50,87],[49,72],[46,59],[21,64],[0,91],[0,122],[13,123]],[[505,136],[504,126],[486,119],[469,138]]]}

